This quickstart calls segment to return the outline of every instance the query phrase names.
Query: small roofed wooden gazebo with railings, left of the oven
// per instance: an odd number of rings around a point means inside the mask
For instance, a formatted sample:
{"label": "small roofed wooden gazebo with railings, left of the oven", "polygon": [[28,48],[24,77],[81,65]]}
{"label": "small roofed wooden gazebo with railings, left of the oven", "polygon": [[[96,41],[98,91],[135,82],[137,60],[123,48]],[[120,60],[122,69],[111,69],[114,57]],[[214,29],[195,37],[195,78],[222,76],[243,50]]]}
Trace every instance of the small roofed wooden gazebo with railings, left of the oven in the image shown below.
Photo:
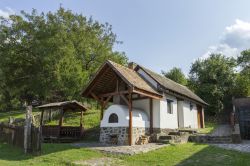
{"label": "small roofed wooden gazebo with railings, left of the oven", "polygon": [[[64,101],[57,103],[49,103],[38,106],[41,110],[40,126],[42,128],[42,136],[44,139],[79,139],[83,135],[83,112],[87,110],[87,107],[77,101]],[[43,117],[44,112],[60,111],[60,118],[58,125],[44,125]],[[80,125],[79,126],[63,126],[64,114],[68,111],[80,112]],[[50,112],[51,113],[51,112]]]}

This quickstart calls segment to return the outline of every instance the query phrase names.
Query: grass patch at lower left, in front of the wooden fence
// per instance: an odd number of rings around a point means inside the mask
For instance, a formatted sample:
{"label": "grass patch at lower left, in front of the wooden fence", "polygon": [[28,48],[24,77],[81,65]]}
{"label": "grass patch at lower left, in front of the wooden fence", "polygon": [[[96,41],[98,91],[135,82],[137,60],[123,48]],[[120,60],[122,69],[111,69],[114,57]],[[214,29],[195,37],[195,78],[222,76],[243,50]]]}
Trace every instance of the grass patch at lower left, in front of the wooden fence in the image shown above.
{"label": "grass patch at lower left, in front of the wooden fence", "polygon": [[101,157],[103,154],[69,144],[43,144],[40,156],[24,155],[21,149],[0,143],[0,165],[71,165],[75,160]]}

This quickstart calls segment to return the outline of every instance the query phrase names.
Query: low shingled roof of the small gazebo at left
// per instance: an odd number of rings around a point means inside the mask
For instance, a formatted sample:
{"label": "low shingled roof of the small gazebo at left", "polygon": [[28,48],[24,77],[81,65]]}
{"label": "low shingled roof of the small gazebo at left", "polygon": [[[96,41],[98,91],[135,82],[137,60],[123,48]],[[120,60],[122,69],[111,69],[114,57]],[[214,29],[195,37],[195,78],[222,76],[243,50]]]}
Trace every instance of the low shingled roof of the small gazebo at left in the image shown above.
{"label": "low shingled roof of the small gazebo at left", "polygon": [[37,108],[39,109],[70,109],[70,110],[82,110],[86,111],[87,107],[81,104],[80,102],[73,100],[73,101],[63,101],[63,102],[56,102],[56,103],[48,103],[44,105],[40,105]]}

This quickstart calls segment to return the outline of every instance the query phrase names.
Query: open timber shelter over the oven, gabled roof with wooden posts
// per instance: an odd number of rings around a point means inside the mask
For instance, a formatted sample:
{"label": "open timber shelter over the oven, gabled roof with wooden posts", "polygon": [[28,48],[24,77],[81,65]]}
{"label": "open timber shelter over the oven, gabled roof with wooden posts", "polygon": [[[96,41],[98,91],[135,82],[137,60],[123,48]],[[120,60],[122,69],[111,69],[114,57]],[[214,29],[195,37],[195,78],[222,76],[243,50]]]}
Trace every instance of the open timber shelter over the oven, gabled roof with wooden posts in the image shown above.
{"label": "open timber shelter over the oven, gabled roof with wooden posts", "polygon": [[82,96],[101,105],[101,115],[109,102],[127,105],[129,109],[129,145],[132,145],[132,107],[134,100],[149,99],[150,133],[153,132],[153,99],[162,95],[150,87],[134,70],[106,61],[90,81]]}

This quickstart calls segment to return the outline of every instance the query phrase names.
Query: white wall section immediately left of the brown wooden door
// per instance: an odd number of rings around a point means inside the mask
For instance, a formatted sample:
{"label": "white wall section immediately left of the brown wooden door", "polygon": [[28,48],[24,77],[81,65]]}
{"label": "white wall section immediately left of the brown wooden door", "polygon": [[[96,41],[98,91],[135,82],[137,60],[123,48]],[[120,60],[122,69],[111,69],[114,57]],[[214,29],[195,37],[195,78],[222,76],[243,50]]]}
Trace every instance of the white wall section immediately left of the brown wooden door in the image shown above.
{"label": "white wall section immediately left of the brown wooden door", "polygon": [[190,101],[183,101],[184,127],[198,128],[197,107],[195,103],[190,110]]}

